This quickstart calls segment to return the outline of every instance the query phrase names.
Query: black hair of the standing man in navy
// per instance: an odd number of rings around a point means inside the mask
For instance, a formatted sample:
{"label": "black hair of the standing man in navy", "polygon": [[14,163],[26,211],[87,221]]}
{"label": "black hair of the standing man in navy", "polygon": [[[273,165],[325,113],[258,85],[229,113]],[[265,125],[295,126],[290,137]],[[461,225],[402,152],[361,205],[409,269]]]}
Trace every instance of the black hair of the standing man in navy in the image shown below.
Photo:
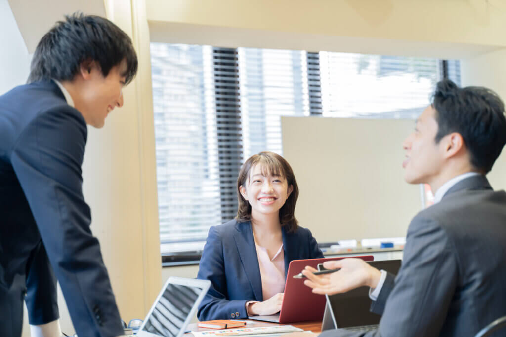
{"label": "black hair of the standing man in navy", "polygon": [[33,54],[28,83],[56,79],[71,81],[82,62],[95,61],[106,77],[122,61],[125,84],[137,73],[137,55],[132,40],[118,26],[95,15],[65,16],[40,39]]}

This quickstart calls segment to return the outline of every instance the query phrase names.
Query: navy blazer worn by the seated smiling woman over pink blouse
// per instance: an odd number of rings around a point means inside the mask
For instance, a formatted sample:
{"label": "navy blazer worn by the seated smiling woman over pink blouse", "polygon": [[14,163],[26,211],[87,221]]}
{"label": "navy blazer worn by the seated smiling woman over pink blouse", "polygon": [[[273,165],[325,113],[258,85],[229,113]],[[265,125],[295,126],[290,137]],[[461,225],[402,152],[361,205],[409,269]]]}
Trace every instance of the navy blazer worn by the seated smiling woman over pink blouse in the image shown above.
{"label": "navy blazer worn by the seated smiling woman over pink blouse", "polygon": [[[311,231],[281,229],[285,278],[291,260],[322,258]],[[246,302],[264,301],[251,223],[231,220],[209,229],[197,278],[211,286],[198,307],[199,320],[247,318]],[[267,299],[266,299],[267,300]]]}

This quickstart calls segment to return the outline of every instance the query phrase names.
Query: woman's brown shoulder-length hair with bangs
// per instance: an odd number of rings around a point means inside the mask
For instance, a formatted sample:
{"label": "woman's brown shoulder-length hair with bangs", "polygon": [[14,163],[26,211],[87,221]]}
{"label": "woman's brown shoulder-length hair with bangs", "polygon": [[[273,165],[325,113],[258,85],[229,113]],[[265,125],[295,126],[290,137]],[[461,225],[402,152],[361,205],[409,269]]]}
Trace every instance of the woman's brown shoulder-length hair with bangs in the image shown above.
{"label": "woman's brown shoulder-length hair with bangs", "polygon": [[249,171],[255,166],[260,165],[262,168],[262,174],[264,175],[279,175],[286,179],[288,186],[292,185],[293,190],[288,196],[288,199],[284,203],[283,207],[279,210],[279,222],[281,226],[285,228],[286,232],[295,232],[299,227],[299,223],[295,217],[295,205],[299,198],[299,186],[297,180],[293,174],[293,170],[290,164],[278,154],[273,152],[261,152],[257,155],[249,157],[241,167],[239,177],[237,178],[237,199],[239,201],[239,207],[237,208],[236,220],[239,222],[251,220],[251,206],[244,200],[241,195],[241,185],[246,186],[249,180]]}

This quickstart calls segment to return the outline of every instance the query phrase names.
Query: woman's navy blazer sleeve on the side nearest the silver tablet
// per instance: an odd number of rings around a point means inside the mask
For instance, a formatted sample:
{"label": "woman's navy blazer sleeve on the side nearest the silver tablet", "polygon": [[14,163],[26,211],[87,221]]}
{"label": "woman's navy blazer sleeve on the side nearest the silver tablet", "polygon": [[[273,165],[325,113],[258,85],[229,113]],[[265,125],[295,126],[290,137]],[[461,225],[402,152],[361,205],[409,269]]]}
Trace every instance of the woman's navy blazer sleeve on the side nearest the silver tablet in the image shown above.
{"label": "woman's navy blazer sleeve on the side nearest the silver tablet", "polygon": [[[197,278],[211,281],[209,291],[198,306],[199,320],[230,319],[230,313],[239,313],[239,317],[247,318],[246,302],[251,300],[229,301],[227,280],[225,277],[225,261],[220,233],[215,227],[209,228],[202,257],[200,258]],[[253,300],[253,299],[252,299]]]}

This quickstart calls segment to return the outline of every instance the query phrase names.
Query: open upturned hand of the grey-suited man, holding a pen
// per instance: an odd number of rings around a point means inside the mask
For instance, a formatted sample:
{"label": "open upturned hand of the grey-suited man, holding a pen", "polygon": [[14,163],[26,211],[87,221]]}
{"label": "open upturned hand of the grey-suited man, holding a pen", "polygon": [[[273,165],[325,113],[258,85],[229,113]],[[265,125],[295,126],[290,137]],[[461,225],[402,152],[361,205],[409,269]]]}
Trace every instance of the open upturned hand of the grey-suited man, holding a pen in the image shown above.
{"label": "open upturned hand of the grey-suited man, holding a pen", "polygon": [[371,267],[362,259],[343,259],[326,261],[323,264],[325,269],[340,269],[331,274],[315,275],[316,269],[307,266],[302,274],[308,279],[304,284],[313,288],[313,293],[322,295],[333,295],[346,293],[360,286],[375,288],[381,272]]}

